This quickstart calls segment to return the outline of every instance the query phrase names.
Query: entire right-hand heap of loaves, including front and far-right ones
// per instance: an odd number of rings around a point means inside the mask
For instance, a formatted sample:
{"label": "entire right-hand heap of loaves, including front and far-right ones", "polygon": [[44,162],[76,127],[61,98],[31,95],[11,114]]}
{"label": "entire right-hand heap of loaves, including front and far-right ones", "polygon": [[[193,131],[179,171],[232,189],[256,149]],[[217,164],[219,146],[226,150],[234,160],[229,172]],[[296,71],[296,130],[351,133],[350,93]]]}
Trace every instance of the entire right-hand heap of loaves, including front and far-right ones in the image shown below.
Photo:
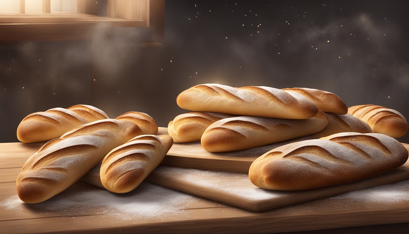
{"label": "entire right-hand heap of loaves, including front and far-right ones", "polygon": [[408,159],[408,151],[392,138],[407,132],[402,114],[376,105],[348,109],[326,91],[200,84],[180,93],[177,103],[193,112],[169,123],[175,142],[200,140],[207,151],[225,152],[294,139],[251,165],[251,182],[264,189],[353,182]]}

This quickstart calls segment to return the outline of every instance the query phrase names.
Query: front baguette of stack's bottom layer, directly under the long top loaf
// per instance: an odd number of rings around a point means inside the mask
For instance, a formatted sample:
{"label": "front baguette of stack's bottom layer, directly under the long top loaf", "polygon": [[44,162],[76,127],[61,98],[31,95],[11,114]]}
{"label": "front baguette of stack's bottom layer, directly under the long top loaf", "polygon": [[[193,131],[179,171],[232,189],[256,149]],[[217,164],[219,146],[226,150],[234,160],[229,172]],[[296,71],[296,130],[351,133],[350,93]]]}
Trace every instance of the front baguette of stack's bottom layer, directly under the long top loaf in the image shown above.
{"label": "front baguette of stack's bottom layer, directly under the long top loaf", "polygon": [[319,111],[309,119],[274,119],[253,116],[225,118],[212,123],[201,143],[209,152],[245,150],[321,131],[328,116]]}

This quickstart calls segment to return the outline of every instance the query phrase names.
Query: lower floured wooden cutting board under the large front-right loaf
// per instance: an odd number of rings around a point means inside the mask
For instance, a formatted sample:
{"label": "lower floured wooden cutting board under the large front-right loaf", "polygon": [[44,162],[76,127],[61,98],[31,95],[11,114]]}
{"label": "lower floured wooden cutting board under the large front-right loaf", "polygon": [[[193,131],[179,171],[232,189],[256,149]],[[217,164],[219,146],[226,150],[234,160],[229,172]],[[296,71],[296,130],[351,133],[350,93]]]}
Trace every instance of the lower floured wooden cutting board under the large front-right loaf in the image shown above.
{"label": "lower floured wooden cutting board under the large front-right loaf", "polygon": [[[93,168],[81,181],[103,188],[99,179],[100,166],[101,164]],[[409,161],[395,170],[358,182],[301,191],[261,189],[250,182],[247,173],[169,166],[159,166],[146,178],[146,181],[258,212],[405,179],[409,179]]]}

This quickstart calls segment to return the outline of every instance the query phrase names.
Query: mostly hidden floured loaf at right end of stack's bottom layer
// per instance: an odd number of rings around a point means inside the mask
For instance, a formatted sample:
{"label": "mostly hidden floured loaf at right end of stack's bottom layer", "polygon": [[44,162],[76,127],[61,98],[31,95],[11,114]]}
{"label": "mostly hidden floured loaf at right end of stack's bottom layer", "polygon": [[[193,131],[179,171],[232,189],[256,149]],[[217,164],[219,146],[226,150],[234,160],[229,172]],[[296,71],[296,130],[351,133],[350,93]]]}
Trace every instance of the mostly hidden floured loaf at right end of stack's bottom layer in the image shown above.
{"label": "mostly hidden floured loaf at right end of stack's bottom layer", "polygon": [[350,114],[337,115],[330,112],[325,114],[328,116],[328,125],[323,130],[310,135],[309,139],[318,139],[339,132],[372,133],[368,124]]}

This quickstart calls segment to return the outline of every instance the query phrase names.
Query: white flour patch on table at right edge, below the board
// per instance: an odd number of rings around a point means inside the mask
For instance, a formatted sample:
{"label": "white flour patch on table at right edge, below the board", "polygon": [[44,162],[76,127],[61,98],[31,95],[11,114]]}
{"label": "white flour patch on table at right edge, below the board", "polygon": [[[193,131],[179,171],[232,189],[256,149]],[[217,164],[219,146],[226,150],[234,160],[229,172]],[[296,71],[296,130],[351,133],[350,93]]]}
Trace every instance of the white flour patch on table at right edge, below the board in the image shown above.
{"label": "white flour patch on table at right edge, below the board", "polygon": [[396,203],[409,201],[409,180],[375,186],[369,189],[360,189],[331,197],[334,200],[348,199],[369,203]]}

